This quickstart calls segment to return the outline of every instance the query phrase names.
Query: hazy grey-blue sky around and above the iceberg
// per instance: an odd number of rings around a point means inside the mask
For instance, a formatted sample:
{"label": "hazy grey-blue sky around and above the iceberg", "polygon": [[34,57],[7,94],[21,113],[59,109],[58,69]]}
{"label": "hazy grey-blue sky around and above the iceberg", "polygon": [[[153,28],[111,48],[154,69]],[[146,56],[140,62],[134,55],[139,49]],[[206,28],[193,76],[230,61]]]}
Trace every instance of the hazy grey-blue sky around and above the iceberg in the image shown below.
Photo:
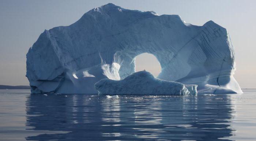
{"label": "hazy grey-blue sky around and above the iceberg", "polygon": [[242,88],[256,88],[255,0],[0,0],[0,85],[29,84],[26,53],[45,29],[68,26],[107,3],[158,15],[180,15],[199,26],[213,20],[230,33],[238,83]]}

